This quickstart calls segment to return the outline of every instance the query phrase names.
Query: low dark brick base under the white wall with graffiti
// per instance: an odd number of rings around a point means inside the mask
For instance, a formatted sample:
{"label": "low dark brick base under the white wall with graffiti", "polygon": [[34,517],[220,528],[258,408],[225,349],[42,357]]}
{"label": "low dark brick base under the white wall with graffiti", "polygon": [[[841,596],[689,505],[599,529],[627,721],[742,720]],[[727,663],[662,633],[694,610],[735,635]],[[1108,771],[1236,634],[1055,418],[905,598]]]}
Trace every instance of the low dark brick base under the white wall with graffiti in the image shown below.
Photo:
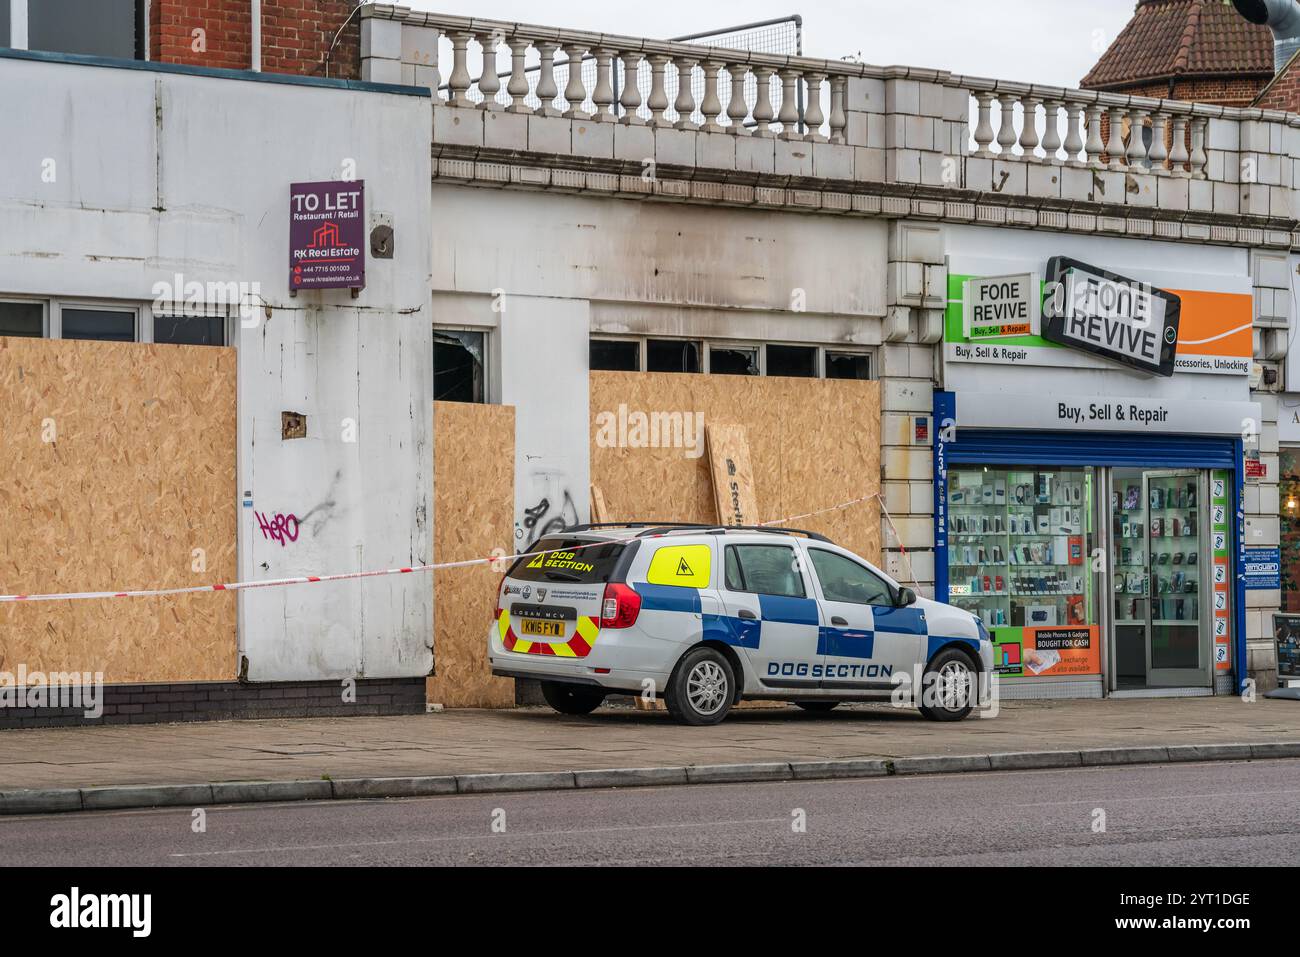
{"label": "low dark brick base under the white wall with graffiti", "polygon": [[0,706],[0,728],[422,714],[424,679],[358,679],[355,701],[343,701],[342,681],[107,684],[103,706],[99,718],[86,718],[81,707]]}

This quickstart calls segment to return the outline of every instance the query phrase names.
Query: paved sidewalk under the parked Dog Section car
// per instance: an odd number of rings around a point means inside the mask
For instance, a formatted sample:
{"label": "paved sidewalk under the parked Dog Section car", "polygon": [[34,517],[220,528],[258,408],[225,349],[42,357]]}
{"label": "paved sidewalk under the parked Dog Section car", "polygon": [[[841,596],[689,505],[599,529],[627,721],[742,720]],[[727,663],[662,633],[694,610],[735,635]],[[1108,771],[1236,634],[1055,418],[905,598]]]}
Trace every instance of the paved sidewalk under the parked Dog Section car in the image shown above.
{"label": "paved sidewalk under the parked Dog Section car", "polygon": [[[1004,702],[992,719],[932,723],[887,705],[733,711],[689,728],[602,707],[459,710],[0,732],[0,791],[417,775],[898,759],[1114,748],[1300,742],[1300,703],[1236,697]],[[1075,762],[1078,763],[1078,762]]]}

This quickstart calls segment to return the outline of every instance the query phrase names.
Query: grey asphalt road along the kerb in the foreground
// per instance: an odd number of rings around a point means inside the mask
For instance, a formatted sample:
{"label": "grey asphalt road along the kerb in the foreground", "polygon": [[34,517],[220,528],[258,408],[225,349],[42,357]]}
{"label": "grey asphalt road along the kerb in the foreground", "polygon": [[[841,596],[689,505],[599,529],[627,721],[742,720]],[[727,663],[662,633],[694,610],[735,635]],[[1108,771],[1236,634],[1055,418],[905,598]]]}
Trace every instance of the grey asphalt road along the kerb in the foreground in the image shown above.
{"label": "grey asphalt road along the kerb in the foreground", "polygon": [[[1095,832],[1097,811],[1105,831]],[[801,819],[805,830],[797,830]],[[22,865],[1245,865],[1300,859],[1300,761],[0,818]],[[494,830],[495,827],[495,830]]]}

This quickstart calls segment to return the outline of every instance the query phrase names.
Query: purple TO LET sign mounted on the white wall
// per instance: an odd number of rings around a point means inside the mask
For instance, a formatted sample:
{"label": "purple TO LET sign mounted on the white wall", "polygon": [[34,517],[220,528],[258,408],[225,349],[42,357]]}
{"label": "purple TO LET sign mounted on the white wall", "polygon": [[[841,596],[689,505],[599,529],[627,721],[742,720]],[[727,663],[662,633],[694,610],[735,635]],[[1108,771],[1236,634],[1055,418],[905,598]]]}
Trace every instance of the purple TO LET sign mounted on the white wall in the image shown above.
{"label": "purple TO LET sign mounted on the white wall", "polygon": [[365,287],[365,181],[290,185],[289,287]]}

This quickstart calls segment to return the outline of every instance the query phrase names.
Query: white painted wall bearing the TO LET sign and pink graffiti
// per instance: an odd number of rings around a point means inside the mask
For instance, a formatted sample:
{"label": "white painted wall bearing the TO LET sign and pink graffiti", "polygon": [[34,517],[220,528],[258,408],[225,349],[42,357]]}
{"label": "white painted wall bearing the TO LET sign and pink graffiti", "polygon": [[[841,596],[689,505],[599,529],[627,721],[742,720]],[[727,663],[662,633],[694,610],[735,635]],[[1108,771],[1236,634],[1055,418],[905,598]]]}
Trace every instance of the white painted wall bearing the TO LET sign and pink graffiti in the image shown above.
{"label": "white painted wall bearing the TO LET sign and pink graffiti", "polygon": [[[429,100],[6,57],[0,90],[0,294],[148,302],[178,272],[260,285],[269,319],[237,343],[240,577],[429,560]],[[290,298],[289,185],[341,178],[350,160],[396,255],[369,259],[358,299]],[[282,411],[308,416],[308,438],[281,439]],[[298,541],[266,540],[254,511],[299,516]],[[428,575],[239,602],[252,680],[430,670]]]}

